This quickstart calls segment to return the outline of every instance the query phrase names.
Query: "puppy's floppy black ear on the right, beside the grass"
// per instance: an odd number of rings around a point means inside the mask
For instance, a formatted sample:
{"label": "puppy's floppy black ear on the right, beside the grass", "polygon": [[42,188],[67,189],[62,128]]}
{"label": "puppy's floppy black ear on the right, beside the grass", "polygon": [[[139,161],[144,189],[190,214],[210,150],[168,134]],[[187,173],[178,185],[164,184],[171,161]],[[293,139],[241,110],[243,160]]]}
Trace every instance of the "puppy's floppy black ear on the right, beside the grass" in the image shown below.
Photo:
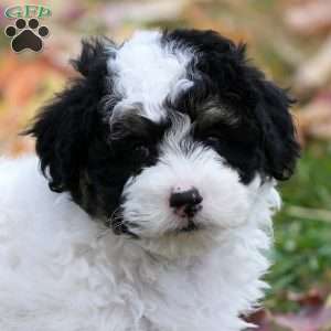
{"label": "puppy's floppy black ear on the right, beside the grass", "polygon": [[256,116],[261,127],[264,171],[277,180],[293,173],[300,147],[289,107],[292,100],[274,83],[260,78]]}

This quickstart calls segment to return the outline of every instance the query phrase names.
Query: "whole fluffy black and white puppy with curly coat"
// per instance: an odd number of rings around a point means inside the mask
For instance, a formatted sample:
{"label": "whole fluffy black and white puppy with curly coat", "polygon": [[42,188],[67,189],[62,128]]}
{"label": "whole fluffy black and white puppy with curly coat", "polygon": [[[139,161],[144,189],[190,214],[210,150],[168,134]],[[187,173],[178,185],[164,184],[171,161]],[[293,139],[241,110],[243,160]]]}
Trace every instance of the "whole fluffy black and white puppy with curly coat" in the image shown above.
{"label": "whole fluffy black and white puppy with curly coat", "polygon": [[0,330],[249,327],[299,152],[289,97],[213,31],[84,42],[73,64],[26,131],[39,159],[0,163]]}

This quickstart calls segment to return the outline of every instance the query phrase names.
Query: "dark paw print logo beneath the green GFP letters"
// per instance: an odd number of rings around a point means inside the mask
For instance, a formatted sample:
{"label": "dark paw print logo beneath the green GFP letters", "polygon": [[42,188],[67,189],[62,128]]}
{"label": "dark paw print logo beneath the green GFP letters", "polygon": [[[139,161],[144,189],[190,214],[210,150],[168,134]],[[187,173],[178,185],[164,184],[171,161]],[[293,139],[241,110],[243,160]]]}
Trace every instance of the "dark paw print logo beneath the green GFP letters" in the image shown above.
{"label": "dark paw print logo beneath the green GFP letters", "polygon": [[7,26],[4,33],[12,38],[11,47],[14,52],[24,50],[40,52],[43,47],[43,39],[50,34],[50,30],[47,26],[40,26],[36,19],[30,19],[28,24],[24,19],[18,19],[15,26]]}

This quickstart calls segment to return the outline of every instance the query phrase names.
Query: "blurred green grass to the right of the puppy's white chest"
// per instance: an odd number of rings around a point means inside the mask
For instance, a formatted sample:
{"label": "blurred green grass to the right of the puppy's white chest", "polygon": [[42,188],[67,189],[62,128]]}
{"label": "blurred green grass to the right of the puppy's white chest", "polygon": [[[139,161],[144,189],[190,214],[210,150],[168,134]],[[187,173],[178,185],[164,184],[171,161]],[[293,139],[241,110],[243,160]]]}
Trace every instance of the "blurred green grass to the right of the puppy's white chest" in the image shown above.
{"label": "blurred green grass to the right of the puppy's white chest", "polygon": [[284,207],[275,221],[266,306],[288,311],[298,308],[288,292],[331,285],[331,143],[311,143],[296,175],[280,189]]}

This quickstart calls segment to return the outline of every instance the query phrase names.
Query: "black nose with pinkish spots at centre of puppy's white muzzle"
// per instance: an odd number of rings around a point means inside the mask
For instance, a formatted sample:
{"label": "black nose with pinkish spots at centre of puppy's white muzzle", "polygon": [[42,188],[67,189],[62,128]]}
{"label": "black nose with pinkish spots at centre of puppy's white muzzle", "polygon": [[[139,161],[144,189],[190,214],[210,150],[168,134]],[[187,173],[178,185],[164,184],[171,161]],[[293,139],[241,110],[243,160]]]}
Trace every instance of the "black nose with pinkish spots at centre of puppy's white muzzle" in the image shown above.
{"label": "black nose with pinkish spots at centre of puppy's white muzzle", "polygon": [[170,207],[181,217],[192,218],[201,209],[203,197],[195,188],[183,191],[177,189],[170,195]]}

